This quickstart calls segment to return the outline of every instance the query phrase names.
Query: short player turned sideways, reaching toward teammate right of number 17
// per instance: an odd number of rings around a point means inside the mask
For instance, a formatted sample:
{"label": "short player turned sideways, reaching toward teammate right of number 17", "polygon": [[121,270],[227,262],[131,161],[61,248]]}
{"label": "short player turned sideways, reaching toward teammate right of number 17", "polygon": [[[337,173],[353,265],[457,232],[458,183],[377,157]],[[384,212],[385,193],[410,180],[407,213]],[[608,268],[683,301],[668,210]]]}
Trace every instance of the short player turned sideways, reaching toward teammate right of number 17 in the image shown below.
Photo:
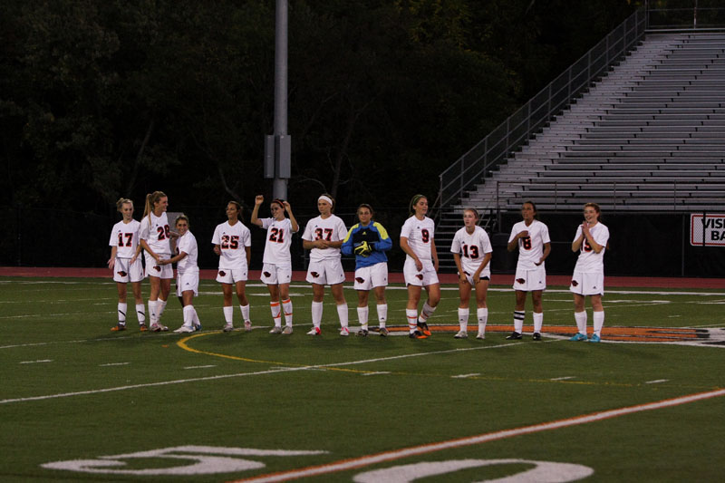
{"label": "short player turned sideways, reaching toward teammate right of number 17", "polygon": [[184,307],[184,324],[175,333],[190,333],[201,330],[201,322],[194,309],[194,297],[198,295],[198,246],[197,238],[189,231],[189,217],[180,215],[174,225],[178,238],[174,240],[176,255],[161,260],[163,266],[176,265],[176,295]]}

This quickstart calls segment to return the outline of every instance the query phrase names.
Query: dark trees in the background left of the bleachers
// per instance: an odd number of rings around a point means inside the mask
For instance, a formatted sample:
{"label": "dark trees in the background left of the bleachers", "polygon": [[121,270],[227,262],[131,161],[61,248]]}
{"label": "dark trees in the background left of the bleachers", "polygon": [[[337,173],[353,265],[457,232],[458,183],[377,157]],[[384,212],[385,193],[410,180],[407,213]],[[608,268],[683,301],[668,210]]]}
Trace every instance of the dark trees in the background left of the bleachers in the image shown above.
{"label": "dark trees in the background left of the bleachers", "polygon": [[[290,0],[290,199],[434,198],[442,169],[628,0]],[[268,193],[273,0],[5,0],[0,205],[108,214]],[[138,207],[137,207],[138,209]]]}

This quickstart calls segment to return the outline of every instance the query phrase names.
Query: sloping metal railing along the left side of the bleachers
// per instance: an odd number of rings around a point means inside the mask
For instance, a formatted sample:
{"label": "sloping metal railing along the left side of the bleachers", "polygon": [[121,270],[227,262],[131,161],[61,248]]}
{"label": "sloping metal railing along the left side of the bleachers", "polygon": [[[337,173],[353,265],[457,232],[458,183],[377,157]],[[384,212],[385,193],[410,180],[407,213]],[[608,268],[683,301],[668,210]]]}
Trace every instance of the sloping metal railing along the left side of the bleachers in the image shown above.
{"label": "sloping metal railing along the left side of the bleachers", "polygon": [[498,128],[440,173],[440,188],[434,207],[440,217],[443,207],[461,198],[491,171],[519,149],[554,115],[587,89],[597,76],[632,50],[644,35],[647,15],[637,10],[602,41],[556,77]]}

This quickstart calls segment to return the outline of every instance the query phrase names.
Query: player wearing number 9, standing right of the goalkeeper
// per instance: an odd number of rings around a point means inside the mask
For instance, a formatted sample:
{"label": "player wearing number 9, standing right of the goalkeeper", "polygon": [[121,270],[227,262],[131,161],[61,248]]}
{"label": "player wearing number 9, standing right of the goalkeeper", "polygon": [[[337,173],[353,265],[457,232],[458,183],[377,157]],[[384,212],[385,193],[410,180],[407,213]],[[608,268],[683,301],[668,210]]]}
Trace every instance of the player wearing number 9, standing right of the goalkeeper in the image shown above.
{"label": "player wearing number 9, standing right of the goalkeeper", "polygon": [[[430,336],[426,322],[440,302],[440,283],[438,280],[438,253],[435,244],[435,226],[433,220],[426,217],[428,198],[415,195],[411,199],[411,217],[401,228],[401,248],[407,255],[403,266],[405,285],[408,286],[408,304],[405,316],[411,339],[425,339]],[[418,315],[420,292],[425,287],[428,300]]]}

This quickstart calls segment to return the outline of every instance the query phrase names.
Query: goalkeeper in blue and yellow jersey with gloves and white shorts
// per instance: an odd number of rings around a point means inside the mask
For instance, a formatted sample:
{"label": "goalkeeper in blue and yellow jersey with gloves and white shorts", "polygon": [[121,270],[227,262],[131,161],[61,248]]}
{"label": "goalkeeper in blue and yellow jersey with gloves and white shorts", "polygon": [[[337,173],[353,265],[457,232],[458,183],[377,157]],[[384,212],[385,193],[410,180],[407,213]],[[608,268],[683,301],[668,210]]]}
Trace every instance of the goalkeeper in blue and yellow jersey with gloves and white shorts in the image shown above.
{"label": "goalkeeper in blue and yellow jersey with gloves and white shorts", "polygon": [[358,335],[368,334],[368,294],[375,291],[377,299],[379,333],[388,334],[385,322],[388,318],[388,303],[385,300],[385,287],[388,285],[388,256],[392,240],[388,231],[378,222],[372,221],[374,212],[368,204],[357,208],[360,223],[347,232],[341,250],[344,255],[355,256],[355,285],[358,294],[357,316],[360,321]]}

